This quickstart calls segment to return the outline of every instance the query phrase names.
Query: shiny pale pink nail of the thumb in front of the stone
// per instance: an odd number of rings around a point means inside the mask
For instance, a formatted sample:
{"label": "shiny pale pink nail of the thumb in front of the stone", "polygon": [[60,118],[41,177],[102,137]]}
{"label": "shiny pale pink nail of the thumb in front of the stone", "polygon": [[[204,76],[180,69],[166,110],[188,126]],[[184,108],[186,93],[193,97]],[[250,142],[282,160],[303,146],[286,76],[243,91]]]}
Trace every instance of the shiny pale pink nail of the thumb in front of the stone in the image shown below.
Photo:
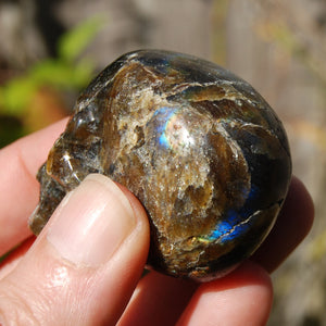
{"label": "shiny pale pink nail of the thumb in front of the stone", "polygon": [[136,226],[128,199],[111,179],[89,175],[50,220],[47,239],[74,264],[105,263]]}

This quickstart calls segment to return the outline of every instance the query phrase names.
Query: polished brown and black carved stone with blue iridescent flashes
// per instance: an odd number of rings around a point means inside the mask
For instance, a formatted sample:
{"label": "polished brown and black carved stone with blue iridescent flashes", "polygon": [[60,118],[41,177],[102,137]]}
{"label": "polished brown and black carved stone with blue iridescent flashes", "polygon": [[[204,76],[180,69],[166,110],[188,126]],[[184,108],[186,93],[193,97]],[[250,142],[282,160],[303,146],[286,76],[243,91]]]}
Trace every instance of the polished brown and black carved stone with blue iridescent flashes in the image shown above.
{"label": "polished brown and black carved stone with blue iridescent flashes", "polygon": [[264,240],[291,160],[281,123],[248,83],[195,57],[142,50],[117,59],[80,95],[38,173],[35,234],[90,173],[142,202],[149,265],[209,280]]}

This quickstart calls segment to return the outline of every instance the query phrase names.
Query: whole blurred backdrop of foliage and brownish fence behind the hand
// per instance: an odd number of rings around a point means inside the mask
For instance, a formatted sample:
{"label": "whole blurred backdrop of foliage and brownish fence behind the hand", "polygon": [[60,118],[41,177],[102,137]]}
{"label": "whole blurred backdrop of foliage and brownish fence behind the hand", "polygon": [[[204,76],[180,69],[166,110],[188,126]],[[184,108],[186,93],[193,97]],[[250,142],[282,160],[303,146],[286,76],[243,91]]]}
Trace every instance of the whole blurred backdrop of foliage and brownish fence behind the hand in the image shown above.
{"label": "whole blurred backdrop of foliage and brownish fence behind the hand", "polygon": [[248,80],[284,122],[316,205],[273,275],[268,325],[326,325],[326,0],[0,0],[0,148],[70,114],[135,49],[195,54]]}

